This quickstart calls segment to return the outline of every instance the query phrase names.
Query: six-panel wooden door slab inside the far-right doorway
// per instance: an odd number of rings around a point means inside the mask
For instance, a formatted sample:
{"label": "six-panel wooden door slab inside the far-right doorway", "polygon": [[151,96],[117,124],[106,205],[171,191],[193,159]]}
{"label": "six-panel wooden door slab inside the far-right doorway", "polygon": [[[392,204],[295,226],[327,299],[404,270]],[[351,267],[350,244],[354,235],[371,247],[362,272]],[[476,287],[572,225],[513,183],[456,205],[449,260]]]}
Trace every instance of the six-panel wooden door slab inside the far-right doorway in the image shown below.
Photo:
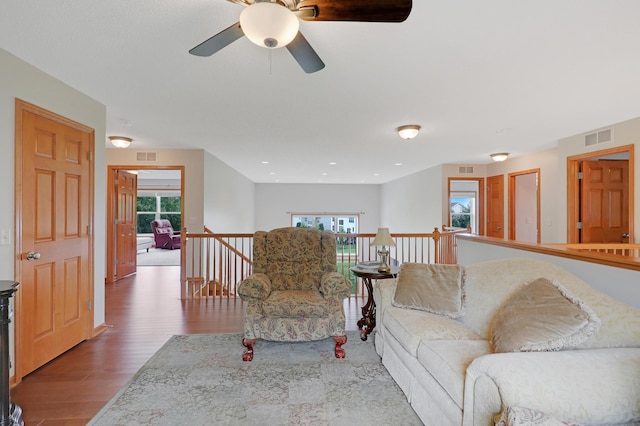
{"label": "six-panel wooden door slab inside the far-right doorway", "polygon": [[582,243],[629,242],[629,162],[582,162]]}

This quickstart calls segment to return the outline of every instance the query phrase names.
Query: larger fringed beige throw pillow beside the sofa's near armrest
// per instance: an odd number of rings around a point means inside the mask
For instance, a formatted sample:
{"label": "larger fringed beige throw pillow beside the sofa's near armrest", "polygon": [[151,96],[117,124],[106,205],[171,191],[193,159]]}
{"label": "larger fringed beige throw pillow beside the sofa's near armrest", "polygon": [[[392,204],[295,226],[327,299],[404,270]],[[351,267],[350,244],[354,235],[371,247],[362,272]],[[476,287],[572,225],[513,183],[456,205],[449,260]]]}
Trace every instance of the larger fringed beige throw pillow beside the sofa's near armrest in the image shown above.
{"label": "larger fringed beige throw pillow beside the sofa's near armrest", "polygon": [[525,284],[496,313],[490,327],[495,352],[557,351],[587,340],[600,319],[584,302],[546,278]]}

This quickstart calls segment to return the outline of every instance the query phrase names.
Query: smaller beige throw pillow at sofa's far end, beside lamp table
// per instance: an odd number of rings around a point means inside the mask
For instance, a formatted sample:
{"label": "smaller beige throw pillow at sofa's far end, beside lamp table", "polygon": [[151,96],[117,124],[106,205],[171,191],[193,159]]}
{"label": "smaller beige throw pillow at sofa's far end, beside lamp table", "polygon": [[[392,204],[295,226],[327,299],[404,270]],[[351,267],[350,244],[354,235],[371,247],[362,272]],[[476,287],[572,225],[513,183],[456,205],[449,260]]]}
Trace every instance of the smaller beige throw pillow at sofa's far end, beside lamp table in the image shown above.
{"label": "smaller beige throw pillow at sofa's far end, beside lamp table", "polygon": [[465,308],[463,271],[459,265],[403,263],[392,304],[459,318]]}

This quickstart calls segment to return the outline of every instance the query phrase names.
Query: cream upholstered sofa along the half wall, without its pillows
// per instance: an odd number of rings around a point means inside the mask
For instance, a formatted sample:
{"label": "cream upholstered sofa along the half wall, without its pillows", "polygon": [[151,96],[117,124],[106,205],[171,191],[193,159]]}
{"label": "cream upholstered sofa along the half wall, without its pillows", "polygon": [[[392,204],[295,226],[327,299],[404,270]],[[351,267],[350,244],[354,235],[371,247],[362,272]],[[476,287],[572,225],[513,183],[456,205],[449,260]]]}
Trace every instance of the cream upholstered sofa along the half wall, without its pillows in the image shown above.
{"label": "cream upholstered sofa along the half wall, without its pillows", "polygon": [[[426,425],[640,424],[640,310],[544,261],[504,259],[461,270],[458,318],[394,306],[402,269],[373,292],[376,351]],[[494,317],[538,278],[591,308],[599,328],[575,348],[494,352]],[[532,412],[548,423],[519,422]]]}

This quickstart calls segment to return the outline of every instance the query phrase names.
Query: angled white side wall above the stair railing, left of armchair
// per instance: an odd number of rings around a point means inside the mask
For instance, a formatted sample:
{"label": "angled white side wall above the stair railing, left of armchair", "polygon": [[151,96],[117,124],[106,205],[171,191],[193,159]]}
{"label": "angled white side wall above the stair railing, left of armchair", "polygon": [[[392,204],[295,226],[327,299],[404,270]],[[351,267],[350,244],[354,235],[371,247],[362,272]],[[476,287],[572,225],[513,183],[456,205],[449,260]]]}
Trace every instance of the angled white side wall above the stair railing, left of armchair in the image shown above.
{"label": "angled white side wall above the stair railing, left of armchair", "polygon": [[213,232],[255,231],[255,184],[204,153],[204,224]]}

